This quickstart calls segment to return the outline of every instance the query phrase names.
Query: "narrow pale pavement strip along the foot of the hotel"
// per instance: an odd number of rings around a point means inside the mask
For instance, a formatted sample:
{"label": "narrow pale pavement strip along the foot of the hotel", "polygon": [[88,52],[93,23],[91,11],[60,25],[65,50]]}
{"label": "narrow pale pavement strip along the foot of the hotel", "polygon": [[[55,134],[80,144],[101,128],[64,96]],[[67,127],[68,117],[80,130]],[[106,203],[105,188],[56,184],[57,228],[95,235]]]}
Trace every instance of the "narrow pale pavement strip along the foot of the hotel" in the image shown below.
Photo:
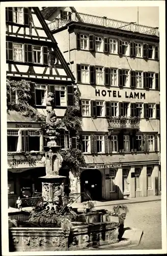
{"label": "narrow pale pavement strip along the foot of the hotel", "polygon": [[[160,201],[161,196],[150,196],[150,197],[138,197],[138,198],[129,198],[129,199],[120,199],[120,200],[112,200],[112,201],[94,201],[94,208],[112,206],[118,204],[133,204],[133,203],[145,203],[145,202],[154,202]],[[72,203],[71,206],[73,208],[85,208],[84,203]]]}

